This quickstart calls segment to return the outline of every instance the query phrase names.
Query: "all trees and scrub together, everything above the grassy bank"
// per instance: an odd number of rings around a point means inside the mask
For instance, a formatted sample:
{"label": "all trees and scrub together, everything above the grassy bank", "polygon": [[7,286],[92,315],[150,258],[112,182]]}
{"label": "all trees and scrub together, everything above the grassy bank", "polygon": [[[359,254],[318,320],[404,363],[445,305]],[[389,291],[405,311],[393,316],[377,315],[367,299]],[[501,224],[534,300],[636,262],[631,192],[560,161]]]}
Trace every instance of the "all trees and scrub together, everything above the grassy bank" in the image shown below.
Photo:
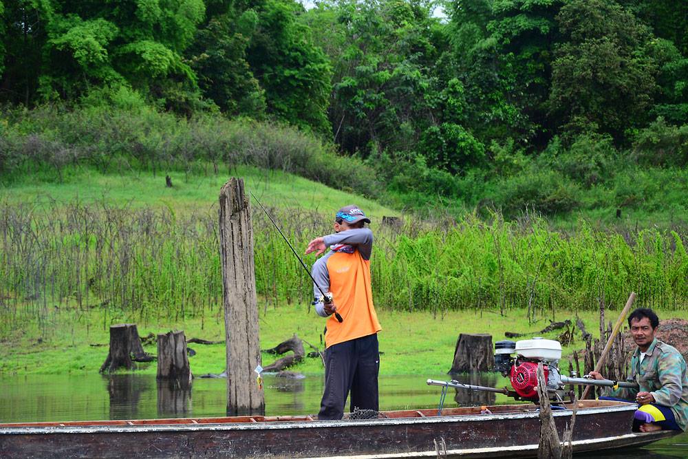
{"label": "all trees and scrub together, everything above the grassy bank", "polygon": [[[0,168],[238,161],[333,185],[351,175],[338,186],[453,215],[661,207],[653,193],[688,164],[683,3],[458,0],[442,10],[427,0],[309,10],[295,0],[3,0],[0,103],[39,113],[3,110]],[[298,138],[279,153],[290,165],[253,151],[251,136],[274,149]],[[660,184],[629,196],[638,173]],[[665,204],[685,220],[685,202]]]}

